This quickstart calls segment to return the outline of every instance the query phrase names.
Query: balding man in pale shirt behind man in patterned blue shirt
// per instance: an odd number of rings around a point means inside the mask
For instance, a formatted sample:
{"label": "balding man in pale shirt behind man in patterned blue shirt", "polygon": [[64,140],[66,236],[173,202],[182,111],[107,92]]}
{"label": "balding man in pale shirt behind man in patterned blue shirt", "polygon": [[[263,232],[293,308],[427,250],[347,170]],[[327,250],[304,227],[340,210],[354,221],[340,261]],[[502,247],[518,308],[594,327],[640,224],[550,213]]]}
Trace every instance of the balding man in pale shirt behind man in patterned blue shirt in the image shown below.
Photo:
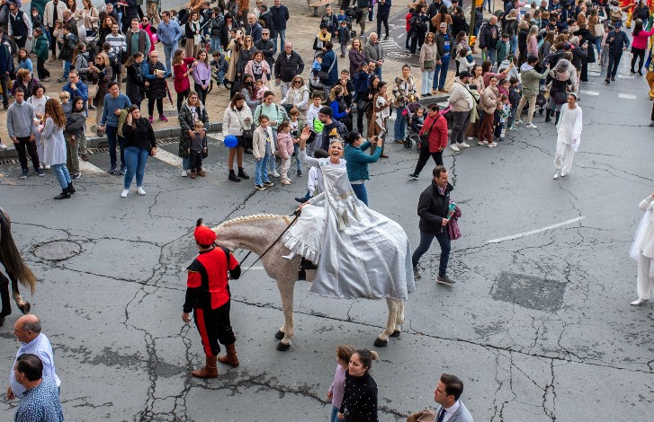
{"label": "balding man in pale shirt behind man in patterned blue shirt", "polygon": [[9,374],[7,399],[21,399],[26,391],[24,385],[16,380],[16,374],[13,371],[19,357],[25,353],[38,356],[43,363],[43,375],[51,378],[59,386],[61,381],[59,381],[59,377],[55,372],[55,356],[48,337],[40,332],[39,318],[32,313],[23,315],[13,324],[13,334],[22,345],[18,349],[18,353],[16,353],[16,359]]}

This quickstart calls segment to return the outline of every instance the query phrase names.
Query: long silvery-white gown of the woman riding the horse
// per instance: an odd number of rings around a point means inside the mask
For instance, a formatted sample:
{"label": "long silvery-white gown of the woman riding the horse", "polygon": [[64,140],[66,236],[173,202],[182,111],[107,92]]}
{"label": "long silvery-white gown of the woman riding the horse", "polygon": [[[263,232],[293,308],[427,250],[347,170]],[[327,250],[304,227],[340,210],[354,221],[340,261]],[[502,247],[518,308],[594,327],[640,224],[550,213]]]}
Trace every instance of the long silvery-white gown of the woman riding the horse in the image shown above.
{"label": "long silvery-white gown of the woman riding the horse", "polygon": [[308,157],[305,151],[300,151],[300,158],[320,167],[325,191],[302,207],[282,242],[318,265],[309,292],[342,299],[407,300],[416,282],[402,227],[356,198],[345,160],[332,164],[328,158]]}

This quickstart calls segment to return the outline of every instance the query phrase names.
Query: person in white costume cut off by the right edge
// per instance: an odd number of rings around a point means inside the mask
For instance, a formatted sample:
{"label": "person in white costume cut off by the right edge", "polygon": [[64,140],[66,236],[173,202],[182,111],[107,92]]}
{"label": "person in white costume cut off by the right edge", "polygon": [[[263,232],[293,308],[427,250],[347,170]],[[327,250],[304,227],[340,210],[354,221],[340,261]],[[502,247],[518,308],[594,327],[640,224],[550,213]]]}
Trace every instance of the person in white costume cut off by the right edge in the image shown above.
{"label": "person in white costume cut off by the right edge", "polygon": [[645,211],[636,231],[630,255],[638,261],[636,293],[638,299],[632,305],[648,302],[654,295],[654,193],[643,199],[639,205]]}

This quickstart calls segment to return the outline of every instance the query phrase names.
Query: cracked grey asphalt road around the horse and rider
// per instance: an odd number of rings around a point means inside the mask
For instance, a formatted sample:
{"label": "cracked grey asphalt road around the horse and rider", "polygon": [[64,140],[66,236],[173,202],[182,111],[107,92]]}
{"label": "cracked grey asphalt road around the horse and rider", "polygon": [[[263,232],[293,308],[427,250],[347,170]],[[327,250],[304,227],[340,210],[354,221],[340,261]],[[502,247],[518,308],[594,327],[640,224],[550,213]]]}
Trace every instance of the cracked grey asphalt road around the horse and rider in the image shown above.
{"label": "cracked grey asphalt road around the horse and rider", "polygon": [[[465,382],[461,400],[479,421],[650,420],[654,309],[629,304],[636,263],[627,251],[638,204],[654,185],[651,102],[644,78],[624,71],[608,86],[597,75],[582,84],[582,144],[566,178],[551,180],[556,137],[540,116],[537,129],[521,128],[497,148],[445,154],[463,213],[450,261],[457,284],[435,284],[434,247],[421,262],[401,337],[377,349],[381,420],[433,406],[443,372]],[[148,195],[132,190],[126,199],[121,178],[103,173],[106,153],[92,156],[95,168],[65,201],[51,199],[58,193],[51,171],[20,180],[17,163],[0,165],[0,205],[40,279],[30,301],[55,348],[67,420],[326,420],[336,346],[372,347],[385,304],[310,296],[299,282],[296,335],[290,351],[278,352],[280,299],[257,266],[231,283],[241,365],[220,365],[217,380],[193,379],[202,346],[180,317],[195,220],[290,214],[306,176],[264,192],[228,182],[225,149],[215,140],[208,177],[183,179],[176,145],[163,149],[171,154],[148,161]],[[428,171],[408,180],[415,150],[388,151],[371,165],[371,207],[398,221],[415,246]],[[254,172],[250,156],[246,170]],[[35,255],[54,241],[75,242],[80,252],[59,261]],[[0,329],[5,377],[18,347],[16,312]],[[16,404],[0,397],[3,420]]]}

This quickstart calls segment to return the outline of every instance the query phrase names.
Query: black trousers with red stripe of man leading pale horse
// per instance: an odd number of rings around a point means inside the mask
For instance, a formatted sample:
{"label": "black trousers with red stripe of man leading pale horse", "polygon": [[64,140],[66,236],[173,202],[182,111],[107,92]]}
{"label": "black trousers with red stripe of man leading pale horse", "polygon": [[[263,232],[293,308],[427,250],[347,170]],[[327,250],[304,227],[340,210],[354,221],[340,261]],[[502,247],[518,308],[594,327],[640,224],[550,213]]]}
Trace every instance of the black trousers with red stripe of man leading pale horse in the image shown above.
{"label": "black trousers with red stripe of man leading pale horse", "polygon": [[207,356],[217,356],[220,345],[234,344],[237,340],[229,322],[229,302],[216,309],[195,308],[193,319],[202,338],[202,347]]}

